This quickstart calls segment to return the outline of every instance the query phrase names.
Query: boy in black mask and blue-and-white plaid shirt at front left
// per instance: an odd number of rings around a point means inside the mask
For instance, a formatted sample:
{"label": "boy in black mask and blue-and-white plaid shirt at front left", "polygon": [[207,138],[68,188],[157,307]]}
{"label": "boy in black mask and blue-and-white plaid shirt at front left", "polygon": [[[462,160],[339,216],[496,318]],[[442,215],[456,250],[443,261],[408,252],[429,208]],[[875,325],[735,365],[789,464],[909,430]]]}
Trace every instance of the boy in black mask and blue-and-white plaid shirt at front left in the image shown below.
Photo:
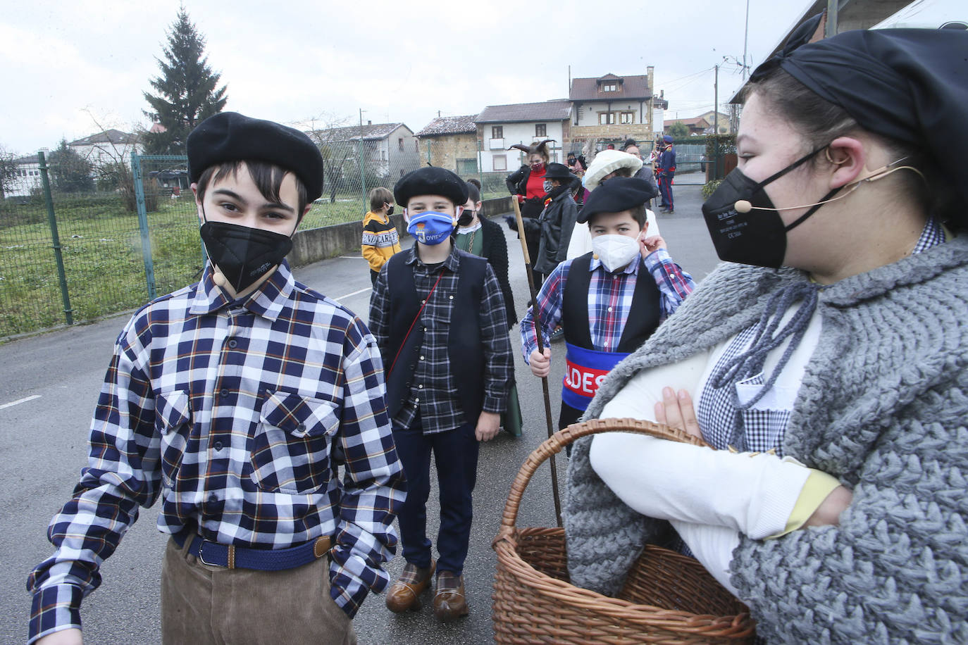
{"label": "boy in black mask and blue-and-white plaid shirt at front left", "polygon": [[284,259],[322,158],[233,112],[187,146],[210,261],[115,342],[88,466],[28,580],[29,641],[80,642],[101,563],[161,497],[163,643],[355,643],[350,619],[389,582],[405,479],[375,338]]}

